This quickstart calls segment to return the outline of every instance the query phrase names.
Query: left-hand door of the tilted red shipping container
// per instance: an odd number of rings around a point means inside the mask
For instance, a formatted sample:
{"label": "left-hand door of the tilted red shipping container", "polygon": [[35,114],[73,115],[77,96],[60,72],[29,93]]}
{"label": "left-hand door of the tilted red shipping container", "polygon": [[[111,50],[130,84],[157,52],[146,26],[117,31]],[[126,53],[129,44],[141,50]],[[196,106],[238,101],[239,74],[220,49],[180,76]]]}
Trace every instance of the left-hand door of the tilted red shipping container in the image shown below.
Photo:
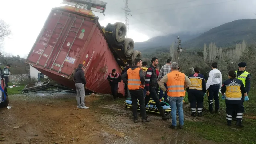
{"label": "left-hand door of the tilted red shipping container", "polygon": [[45,22],[40,36],[28,60],[36,65],[46,67],[53,51],[58,49],[59,42],[63,39],[63,33],[70,23],[70,14],[61,11],[52,11]]}

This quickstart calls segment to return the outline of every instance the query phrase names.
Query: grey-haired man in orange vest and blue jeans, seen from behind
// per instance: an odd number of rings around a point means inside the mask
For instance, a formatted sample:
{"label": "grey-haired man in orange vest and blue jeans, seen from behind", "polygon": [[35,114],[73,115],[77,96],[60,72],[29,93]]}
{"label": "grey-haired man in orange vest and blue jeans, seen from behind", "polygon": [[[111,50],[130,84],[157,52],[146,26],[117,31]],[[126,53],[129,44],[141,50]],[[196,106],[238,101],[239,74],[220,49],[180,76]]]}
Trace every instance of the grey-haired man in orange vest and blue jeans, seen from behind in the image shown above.
{"label": "grey-haired man in orange vest and blue jeans, seen from behind", "polygon": [[[188,88],[191,84],[188,76],[186,76],[184,73],[181,73],[178,71],[179,65],[176,62],[173,62],[171,64],[171,72],[165,75],[160,81],[159,81],[159,87],[167,92],[167,95],[169,96],[169,101],[171,105],[171,115],[172,115],[172,124],[170,124],[170,127],[172,129],[177,128],[176,123],[176,110],[178,110],[179,115],[179,127],[180,129],[183,129],[184,125],[184,114],[183,114],[183,97],[185,96],[185,90],[184,88]],[[167,89],[164,86],[164,83],[167,85]]]}

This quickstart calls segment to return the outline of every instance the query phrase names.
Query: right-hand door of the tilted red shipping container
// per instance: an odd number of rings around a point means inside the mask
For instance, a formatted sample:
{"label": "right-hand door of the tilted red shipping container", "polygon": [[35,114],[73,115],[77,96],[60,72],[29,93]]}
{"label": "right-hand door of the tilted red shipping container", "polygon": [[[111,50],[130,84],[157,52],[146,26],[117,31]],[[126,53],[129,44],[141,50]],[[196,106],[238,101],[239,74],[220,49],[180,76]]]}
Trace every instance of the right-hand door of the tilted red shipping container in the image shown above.
{"label": "right-hand door of the tilted red shipping container", "polygon": [[[53,51],[51,61],[47,64],[50,70],[57,71],[70,76],[72,67],[78,61],[81,52],[85,50],[84,44],[88,41],[88,36],[92,31],[94,19],[70,14],[71,22],[67,32],[61,41],[58,50]],[[75,66],[77,67],[77,66]]]}

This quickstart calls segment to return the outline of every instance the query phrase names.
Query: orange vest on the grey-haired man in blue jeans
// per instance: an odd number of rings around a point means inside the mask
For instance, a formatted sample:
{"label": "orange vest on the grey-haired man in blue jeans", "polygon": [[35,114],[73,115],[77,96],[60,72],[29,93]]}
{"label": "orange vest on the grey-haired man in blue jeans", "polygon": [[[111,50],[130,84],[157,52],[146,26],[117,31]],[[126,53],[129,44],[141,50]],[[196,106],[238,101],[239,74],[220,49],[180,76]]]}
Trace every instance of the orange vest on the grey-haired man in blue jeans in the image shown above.
{"label": "orange vest on the grey-haired man in blue jeans", "polygon": [[167,74],[168,81],[166,83],[169,97],[184,97],[185,90],[185,74],[179,71],[172,71]]}

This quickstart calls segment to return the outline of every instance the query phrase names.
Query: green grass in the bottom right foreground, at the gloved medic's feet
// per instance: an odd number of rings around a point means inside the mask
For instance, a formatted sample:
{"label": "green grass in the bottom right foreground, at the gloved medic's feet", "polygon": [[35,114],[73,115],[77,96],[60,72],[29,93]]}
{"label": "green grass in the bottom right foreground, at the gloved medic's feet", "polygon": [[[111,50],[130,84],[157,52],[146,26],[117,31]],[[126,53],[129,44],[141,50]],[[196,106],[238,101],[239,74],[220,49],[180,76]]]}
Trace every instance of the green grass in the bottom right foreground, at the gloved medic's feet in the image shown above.
{"label": "green grass in the bottom right foreground, at the gloved medic's feet", "polygon": [[[215,121],[213,121],[214,119]],[[253,120],[244,120],[244,128],[226,125],[225,118],[212,118],[201,122],[185,121],[185,131],[193,133],[199,137],[216,142],[232,142],[237,144],[255,144],[256,143],[256,123]]]}

